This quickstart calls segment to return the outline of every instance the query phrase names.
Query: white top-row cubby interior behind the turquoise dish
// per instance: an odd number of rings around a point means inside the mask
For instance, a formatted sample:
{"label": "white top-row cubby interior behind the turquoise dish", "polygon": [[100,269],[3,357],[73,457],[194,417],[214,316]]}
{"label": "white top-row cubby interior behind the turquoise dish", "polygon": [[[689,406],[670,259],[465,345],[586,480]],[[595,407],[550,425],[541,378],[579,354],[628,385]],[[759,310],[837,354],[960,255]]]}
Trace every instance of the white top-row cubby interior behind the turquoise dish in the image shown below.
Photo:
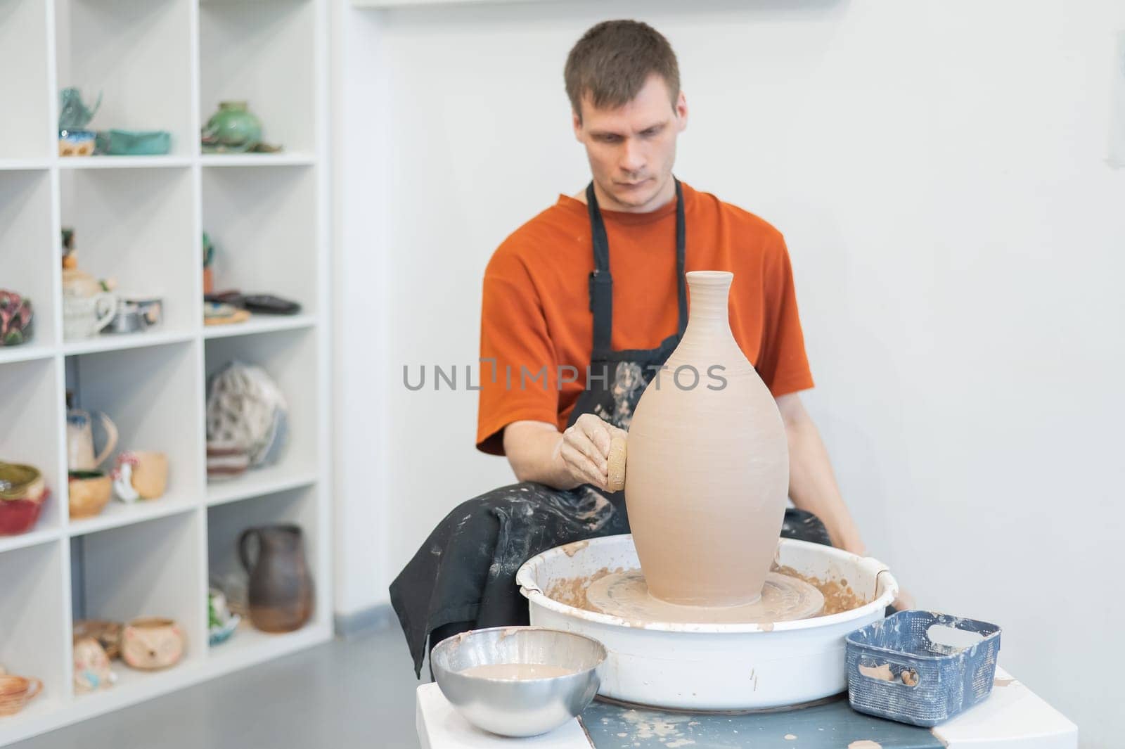
{"label": "white top-row cubby interior behind the turquoise dish", "polygon": [[[57,85],[101,107],[89,129],[169,130],[198,152],[192,119],[194,0],[56,0]],[[57,93],[56,93],[57,96]]]}

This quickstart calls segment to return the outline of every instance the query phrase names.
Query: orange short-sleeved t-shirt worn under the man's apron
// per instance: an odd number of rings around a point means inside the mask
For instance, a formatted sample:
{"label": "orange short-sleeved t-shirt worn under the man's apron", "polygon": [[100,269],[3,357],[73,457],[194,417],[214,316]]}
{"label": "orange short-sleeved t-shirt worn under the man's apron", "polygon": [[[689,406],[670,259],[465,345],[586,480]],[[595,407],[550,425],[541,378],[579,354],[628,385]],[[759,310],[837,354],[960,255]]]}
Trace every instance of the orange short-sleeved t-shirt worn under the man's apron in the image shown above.
{"label": "orange short-sleeved t-shirt worn under the man's apron", "polygon": [[[781,233],[713,195],[683,186],[685,268],[735,274],[730,327],[776,396],[812,387]],[[602,210],[613,276],[614,351],[655,349],[676,332],[676,201],[647,214]],[[567,196],[515,231],[485,269],[477,448],[504,454],[503,431],[533,419],[566,428],[593,351],[586,204]],[[559,380],[574,378],[574,382]],[[532,379],[546,367],[543,378]],[[508,369],[510,368],[510,369]],[[526,373],[521,377],[521,368]],[[511,372],[508,377],[507,372]],[[546,387],[543,387],[546,385]]]}

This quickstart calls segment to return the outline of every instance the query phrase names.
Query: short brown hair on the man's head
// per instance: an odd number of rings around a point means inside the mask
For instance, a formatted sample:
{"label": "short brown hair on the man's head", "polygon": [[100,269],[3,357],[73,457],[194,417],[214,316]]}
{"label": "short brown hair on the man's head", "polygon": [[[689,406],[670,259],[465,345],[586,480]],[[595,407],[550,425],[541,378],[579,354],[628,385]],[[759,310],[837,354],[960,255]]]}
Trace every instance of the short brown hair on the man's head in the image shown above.
{"label": "short brown hair on the man's head", "polygon": [[567,55],[562,75],[580,120],[586,96],[595,107],[622,107],[652,73],[664,79],[674,103],[680,96],[680,65],[668,40],[648,24],[610,20],[582,35]]}

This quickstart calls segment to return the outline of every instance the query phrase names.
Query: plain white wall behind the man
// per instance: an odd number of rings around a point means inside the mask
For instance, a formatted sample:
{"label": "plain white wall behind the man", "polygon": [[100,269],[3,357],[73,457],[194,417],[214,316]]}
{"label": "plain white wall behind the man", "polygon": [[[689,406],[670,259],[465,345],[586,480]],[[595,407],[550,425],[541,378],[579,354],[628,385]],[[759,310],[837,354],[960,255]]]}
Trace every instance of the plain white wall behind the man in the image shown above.
{"label": "plain white wall behind the man", "polygon": [[681,60],[677,174],[789,240],[807,403],[871,553],[920,604],[1005,626],[1002,662],[1109,747],[1125,3],[687,8],[342,11],[338,608],[386,599],[434,523],[512,480],[474,451],[475,394],[408,392],[402,367],[475,361],[493,249],[588,179],[567,49],[639,17]]}

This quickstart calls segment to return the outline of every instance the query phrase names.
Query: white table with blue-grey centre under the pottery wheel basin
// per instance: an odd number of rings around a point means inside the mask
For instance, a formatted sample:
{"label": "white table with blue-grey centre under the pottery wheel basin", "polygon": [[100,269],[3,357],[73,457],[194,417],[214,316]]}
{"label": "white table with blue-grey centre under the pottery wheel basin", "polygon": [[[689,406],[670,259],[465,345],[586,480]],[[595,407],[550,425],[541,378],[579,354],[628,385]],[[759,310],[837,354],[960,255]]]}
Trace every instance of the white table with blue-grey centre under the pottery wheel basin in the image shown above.
{"label": "white table with blue-grey centre under the pottery wheel basin", "polygon": [[[719,746],[844,749],[852,742],[882,749],[1078,747],[1078,729],[1073,723],[1002,669],[997,669],[996,677],[988,700],[932,729],[930,737],[925,730],[914,730],[910,739],[897,739],[896,732],[901,731],[899,724],[861,716],[847,707],[846,701],[831,706],[739,716],[629,710],[595,702],[582,715],[585,725],[576,719],[544,736],[511,739],[471,725],[446,700],[436,684],[424,684],[417,689],[417,731],[422,749],[647,749],[673,746],[684,749]],[[878,740],[880,738],[882,741]],[[865,740],[875,743],[862,743]]]}

